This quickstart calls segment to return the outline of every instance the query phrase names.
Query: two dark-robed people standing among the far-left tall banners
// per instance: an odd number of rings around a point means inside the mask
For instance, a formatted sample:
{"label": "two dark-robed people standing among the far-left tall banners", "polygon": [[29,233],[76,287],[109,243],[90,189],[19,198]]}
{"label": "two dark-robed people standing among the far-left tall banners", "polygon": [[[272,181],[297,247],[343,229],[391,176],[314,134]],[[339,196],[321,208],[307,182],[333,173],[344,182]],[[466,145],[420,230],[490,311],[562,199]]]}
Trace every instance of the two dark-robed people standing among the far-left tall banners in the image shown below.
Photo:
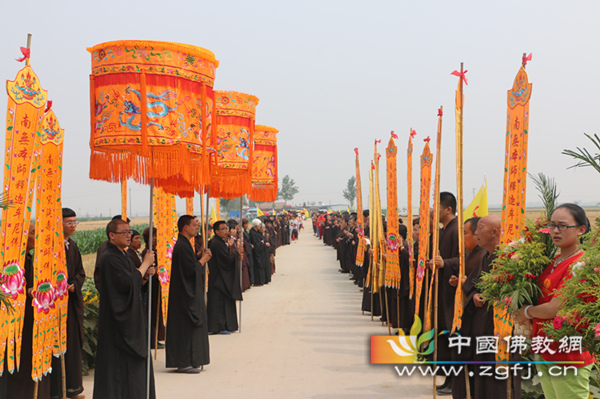
{"label": "two dark-robed people standing among the far-left tall banners", "polygon": [[[72,209],[63,208],[63,235],[65,245],[65,256],[67,263],[67,350],[64,354],[65,363],[65,385],[66,397],[74,399],[83,399],[82,379],[82,351],[83,351],[83,295],[81,289],[85,281],[85,271],[81,253],[75,241],[71,236],[75,233],[77,227],[77,215]],[[37,398],[62,398],[62,367],[61,360],[58,357],[52,358],[52,371],[36,384],[31,378],[32,372],[32,345],[33,345],[33,326],[34,311],[32,305],[33,291],[33,255],[35,247],[35,223],[29,226],[29,235],[27,239],[25,255],[25,282],[26,282],[26,302],[25,314],[23,318],[22,337],[21,337],[21,356],[20,364],[15,370],[6,369],[0,377],[0,399],[29,399],[36,395]]]}

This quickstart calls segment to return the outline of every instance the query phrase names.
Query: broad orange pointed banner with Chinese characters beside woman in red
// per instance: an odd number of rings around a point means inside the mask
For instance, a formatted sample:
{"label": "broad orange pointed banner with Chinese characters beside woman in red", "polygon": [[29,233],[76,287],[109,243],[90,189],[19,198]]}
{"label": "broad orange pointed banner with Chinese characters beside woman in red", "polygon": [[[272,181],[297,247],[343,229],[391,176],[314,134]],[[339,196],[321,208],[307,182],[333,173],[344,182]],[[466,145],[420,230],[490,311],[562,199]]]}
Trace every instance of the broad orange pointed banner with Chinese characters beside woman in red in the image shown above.
{"label": "broad orange pointed banner with Chinese characters beside woman in red", "polygon": [[[525,60],[508,90],[506,144],[504,152],[504,191],[502,196],[501,244],[520,238],[525,225],[527,183],[527,142],[529,136],[529,99],[531,83],[525,72]],[[502,341],[512,334],[512,324],[502,306],[494,307],[494,331]],[[500,345],[498,361],[508,360],[506,347]]]}

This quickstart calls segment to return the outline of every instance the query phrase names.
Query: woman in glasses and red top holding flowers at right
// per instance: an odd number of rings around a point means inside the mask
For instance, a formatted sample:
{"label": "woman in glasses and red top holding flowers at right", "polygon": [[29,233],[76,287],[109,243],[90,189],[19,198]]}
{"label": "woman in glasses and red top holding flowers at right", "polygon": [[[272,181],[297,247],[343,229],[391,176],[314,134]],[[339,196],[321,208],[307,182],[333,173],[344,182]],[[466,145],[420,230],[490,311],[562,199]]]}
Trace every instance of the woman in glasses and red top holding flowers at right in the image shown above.
{"label": "woman in glasses and red top holding flowers at right", "polygon": [[[580,247],[581,237],[589,230],[589,221],[585,211],[575,204],[562,204],[556,208],[548,223],[549,234],[560,253],[546,267],[538,278],[541,295],[538,304],[527,305],[520,309],[520,317],[533,321],[533,336],[546,338],[541,331],[543,323],[555,319],[562,306],[563,298],[560,292],[565,281],[573,277],[572,267],[583,256]],[[561,320],[555,320],[555,322]],[[555,326],[560,329],[560,326]],[[539,339],[539,338],[537,338]],[[594,363],[594,357],[589,352],[581,350],[565,350],[554,342],[549,347],[541,345],[537,352],[545,361],[557,364],[539,364],[538,371],[543,373],[540,377],[542,389],[547,399],[553,398],[588,398],[589,376]],[[561,363],[565,362],[565,363]],[[556,366],[571,366],[566,368],[561,376],[549,374],[549,369]],[[573,369],[576,368],[576,370]],[[561,370],[562,371],[562,370]]]}

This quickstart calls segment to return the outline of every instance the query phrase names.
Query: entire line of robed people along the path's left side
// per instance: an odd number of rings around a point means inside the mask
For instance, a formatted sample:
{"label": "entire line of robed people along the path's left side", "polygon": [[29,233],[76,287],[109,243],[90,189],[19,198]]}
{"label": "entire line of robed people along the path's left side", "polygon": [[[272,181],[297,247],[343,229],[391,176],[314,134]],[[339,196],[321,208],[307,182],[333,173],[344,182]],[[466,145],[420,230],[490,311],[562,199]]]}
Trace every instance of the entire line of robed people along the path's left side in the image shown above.
{"label": "entire line of robed people along the path's left side", "polygon": [[[81,253],[71,238],[77,225],[75,212],[63,208],[69,294],[65,376],[62,376],[61,360],[53,358],[48,377],[42,378],[37,387],[31,379],[34,271],[30,251],[35,246],[35,224],[32,223],[25,262],[27,306],[21,364],[19,370],[5,372],[0,377],[1,399],[31,398],[34,392],[40,399],[85,398],[82,287],[86,276]],[[251,222],[242,219],[241,224],[234,219],[217,221],[207,228],[207,248],[199,234],[197,217],[181,216],[177,228],[179,235],[171,255],[165,328],[159,280],[162,259],[155,253],[156,228],[152,231],[146,228],[140,234],[130,229],[130,220],[123,220],[121,215],[114,216],[106,226],[107,240],[98,247],[94,268],[94,283],[100,299],[94,397],[146,397],[147,362],[152,370],[147,350],[148,314],[151,347],[165,349],[166,367],[179,373],[200,373],[210,363],[209,335],[227,335],[238,330],[236,301],[242,300],[242,292],[271,282],[276,270],[277,248],[297,240],[303,219],[290,213],[263,216]],[[153,398],[153,372],[149,387]]]}

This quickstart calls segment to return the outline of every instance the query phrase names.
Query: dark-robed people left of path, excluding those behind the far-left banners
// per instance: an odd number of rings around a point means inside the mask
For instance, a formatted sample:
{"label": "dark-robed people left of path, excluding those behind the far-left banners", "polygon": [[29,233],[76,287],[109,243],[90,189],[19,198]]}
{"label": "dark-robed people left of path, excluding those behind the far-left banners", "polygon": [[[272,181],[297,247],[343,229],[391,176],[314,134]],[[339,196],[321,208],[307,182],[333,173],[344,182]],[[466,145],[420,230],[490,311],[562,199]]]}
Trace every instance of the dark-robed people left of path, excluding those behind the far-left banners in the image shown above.
{"label": "dark-robed people left of path, excluding those behind the far-left banners", "polygon": [[[214,223],[211,226],[213,236],[205,250],[203,239],[198,235],[198,219],[191,215],[179,218],[179,236],[172,252],[165,337],[167,368],[175,368],[180,373],[200,373],[204,365],[210,363],[208,336],[238,330],[236,301],[242,300],[242,289],[248,289],[252,283],[261,286],[271,281],[275,249],[284,244],[285,239],[277,239],[271,219],[265,219],[264,224],[255,219],[252,225],[252,229],[247,231],[248,221],[242,221],[244,239],[240,245],[240,225],[235,220]],[[142,373],[141,364],[151,363],[151,359],[147,358],[147,350],[143,348],[147,345],[147,335],[145,332],[142,334],[147,325],[144,290],[147,291],[146,280],[156,278],[160,260],[154,259],[153,251],[139,253],[141,245],[137,242],[136,233],[129,230],[127,222],[115,217],[107,226],[109,241],[105,248],[106,251],[111,249],[111,252],[99,256],[99,270],[95,275],[98,275],[96,283],[100,291],[99,326],[103,327],[99,327],[95,397],[145,397],[146,376]],[[149,241],[148,233],[148,230],[144,231],[146,242]],[[156,236],[156,231],[153,236]],[[208,291],[205,304],[206,268]],[[107,290],[105,286],[112,286],[111,282],[115,279],[128,283],[120,289]],[[153,287],[158,290],[159,282],[156,281]],[[156,298],[152,306],[157,308],[152,309],[151,314],[158,315],[157,320],[161,320],[160,293],[153,293],[152,297]],[[125,319],[133,320],[138,327],[144,328],[128,331],[120,324]],[[152,328],[154,342],[162,336],[154,320],[152,323],[155,326]],[[154,330],[158,334],[154,335]],[[103,339],[100,339],[101,335]],[[116,356],[114,351],[121,352],[121,356],[116,357],[121,366],[116,370],[110,361],[112,356]],[[154,397],[153,373],[150,378],[150,397]]]}

